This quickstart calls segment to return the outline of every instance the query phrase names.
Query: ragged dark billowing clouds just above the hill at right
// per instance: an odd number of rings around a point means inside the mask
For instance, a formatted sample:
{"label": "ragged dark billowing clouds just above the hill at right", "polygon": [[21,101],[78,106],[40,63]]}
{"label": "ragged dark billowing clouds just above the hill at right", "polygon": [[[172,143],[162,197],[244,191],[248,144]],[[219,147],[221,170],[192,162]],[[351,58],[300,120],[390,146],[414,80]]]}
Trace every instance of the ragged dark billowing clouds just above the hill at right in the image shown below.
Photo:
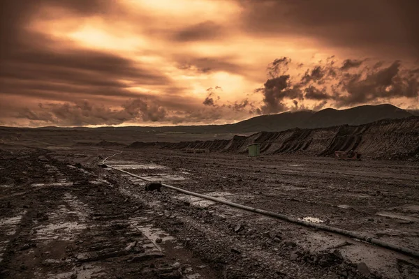
{"label": "ragged dark billowing clouds just above the hill at right", "polygon": [[[268,66],[267,71],[272,75],[272,66]],[[284,73],[281,69],[275,72]],[[319,85],[321,88],[318,88]],[[286,105],[287,100],[296,107],[298,100],[322,101],[315,105],[316,109],[328,101],[333,101],[337,107],[345,107],[390,101],[392,98],[414,100],[419,96],[419,73],[416,73],[416,69],[402,67],[401,61],[394,61],[388,66],[376,63],[372,68],[360,64],[349,73],[328,60],[307,69],[300,79],[291,75],[272,77],[256,92],[263,94],[260,113],[293,109]]]}

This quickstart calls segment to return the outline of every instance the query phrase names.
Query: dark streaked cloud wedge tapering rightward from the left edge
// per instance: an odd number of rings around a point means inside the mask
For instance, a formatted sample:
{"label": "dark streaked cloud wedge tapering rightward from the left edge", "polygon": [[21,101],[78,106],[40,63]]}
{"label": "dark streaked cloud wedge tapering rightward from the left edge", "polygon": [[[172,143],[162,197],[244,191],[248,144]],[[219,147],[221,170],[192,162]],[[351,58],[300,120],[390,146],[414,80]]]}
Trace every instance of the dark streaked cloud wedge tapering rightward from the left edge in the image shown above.
{"label": "dark streaked cloud wedge tapering rightward from the left edge", "polygon": [[[1,93],[135,96],[127,90],[133,84],[170,84],[168,77],[128,59],[81,49],[58,53],[32,47],[14,51],[1,63]],[[128,86],[120,80],[132,83]]]}

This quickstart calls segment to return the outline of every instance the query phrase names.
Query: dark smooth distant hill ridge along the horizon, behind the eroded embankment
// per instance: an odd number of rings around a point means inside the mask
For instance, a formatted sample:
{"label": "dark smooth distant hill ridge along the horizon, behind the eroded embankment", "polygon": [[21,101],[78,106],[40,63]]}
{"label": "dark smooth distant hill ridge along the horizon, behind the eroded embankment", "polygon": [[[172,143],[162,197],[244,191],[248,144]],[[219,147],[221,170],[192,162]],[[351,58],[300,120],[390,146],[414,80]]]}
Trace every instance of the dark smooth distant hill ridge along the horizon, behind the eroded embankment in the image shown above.
{"label": "dark smooth distant hill ridge along the horizon, behind the eroded embankment", "polygon": [[98,131],[136,131],[149,133],[256,133],[279,132],[291,128],[326,128],[340,125],[362,125],[381,119],[402,119],[417,115],[416,110],[402,110],[394,105],[362,105],[347,110],[325,109],[318,112],[311,110],[299,112],[283,112],[280,114],[266,114],[252,117],[244,121],[225,125],[203,126],[163,126],[163,127],[100,127],[100,128],[57,128],[43,127],[38,129],[75,129],[75,130],[98,130]]}

